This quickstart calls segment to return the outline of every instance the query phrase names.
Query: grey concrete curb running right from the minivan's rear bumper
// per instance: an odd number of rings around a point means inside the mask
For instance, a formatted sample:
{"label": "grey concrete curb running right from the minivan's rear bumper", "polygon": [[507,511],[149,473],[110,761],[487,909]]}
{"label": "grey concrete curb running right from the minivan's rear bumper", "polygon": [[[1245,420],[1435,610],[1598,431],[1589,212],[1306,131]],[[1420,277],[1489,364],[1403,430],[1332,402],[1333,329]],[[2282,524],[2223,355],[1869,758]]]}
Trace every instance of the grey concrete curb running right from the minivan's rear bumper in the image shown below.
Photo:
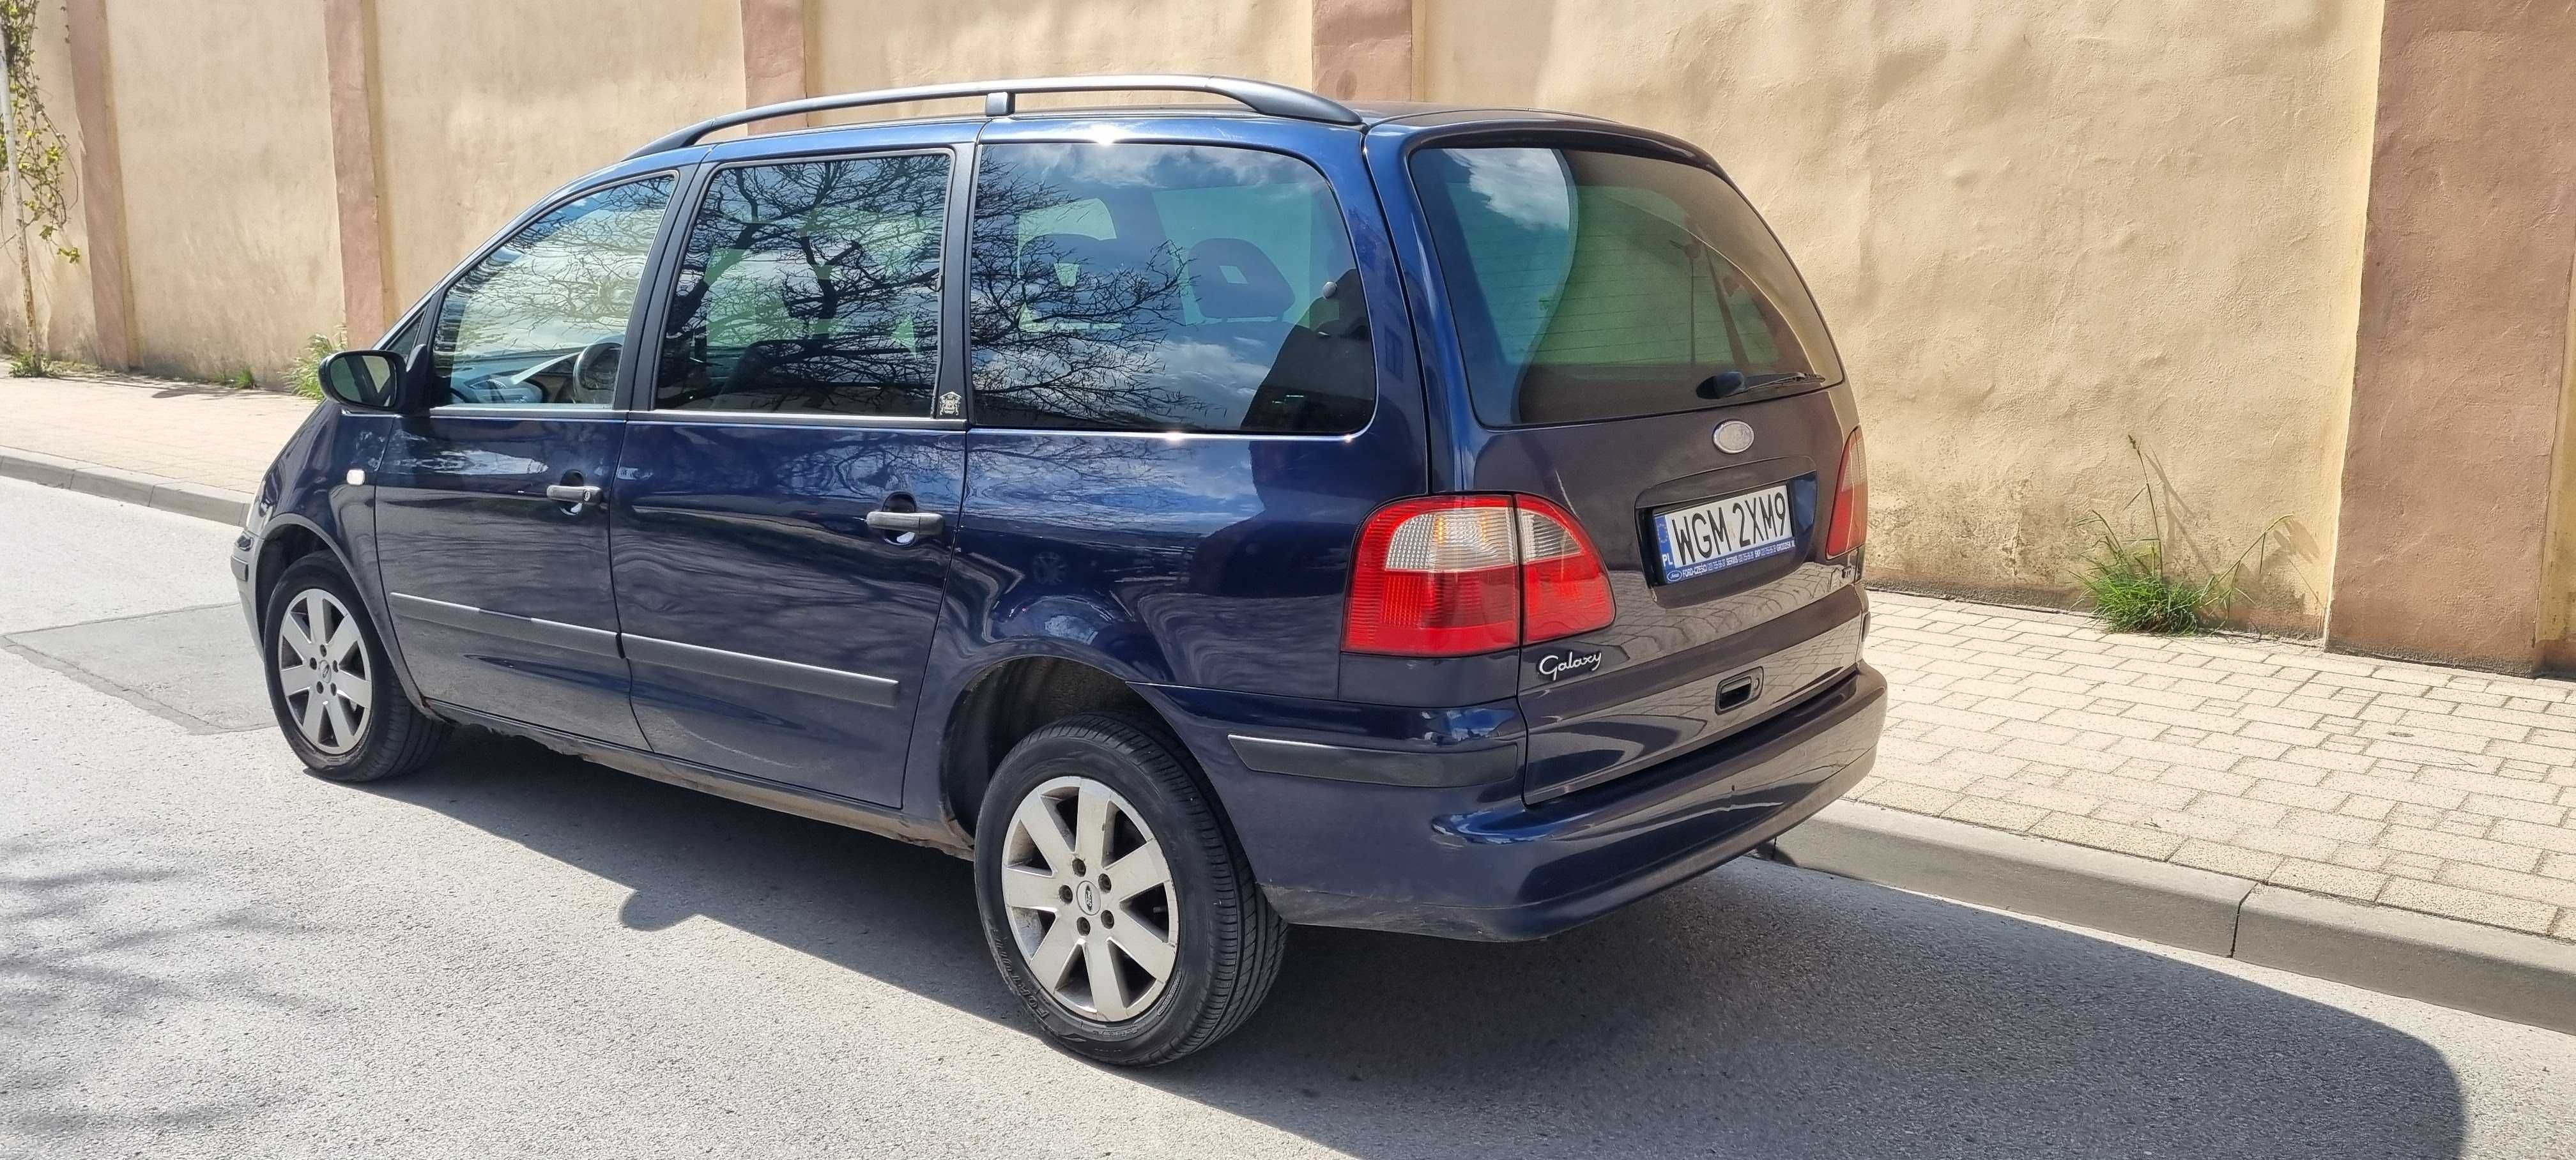
{"label": "grey concrete curb running right from the minivan's rear bumper", "polygon": [[2576,1034],[2576,943],[2349,902],[1865,802],[1780,835],[1783,861],[1883,887]]}

